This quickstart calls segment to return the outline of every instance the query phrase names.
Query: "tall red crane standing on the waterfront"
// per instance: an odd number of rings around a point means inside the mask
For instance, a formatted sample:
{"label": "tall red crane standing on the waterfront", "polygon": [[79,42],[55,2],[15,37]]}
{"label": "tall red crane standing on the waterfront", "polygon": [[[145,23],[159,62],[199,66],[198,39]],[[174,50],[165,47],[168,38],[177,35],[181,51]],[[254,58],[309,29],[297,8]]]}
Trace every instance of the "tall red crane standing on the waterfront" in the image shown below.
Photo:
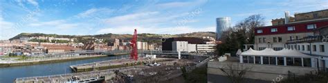
{"label": "tall red crane standing on the waterfront", "polygon": [[130,54],[130,58],[134,59],[134,60],[138,60],[138,49],[137,49],[137,32],[136,29],[134,29],[134,36],[132,36],[132,40],[130,41],[130,45],[131,45],[131,54]]}

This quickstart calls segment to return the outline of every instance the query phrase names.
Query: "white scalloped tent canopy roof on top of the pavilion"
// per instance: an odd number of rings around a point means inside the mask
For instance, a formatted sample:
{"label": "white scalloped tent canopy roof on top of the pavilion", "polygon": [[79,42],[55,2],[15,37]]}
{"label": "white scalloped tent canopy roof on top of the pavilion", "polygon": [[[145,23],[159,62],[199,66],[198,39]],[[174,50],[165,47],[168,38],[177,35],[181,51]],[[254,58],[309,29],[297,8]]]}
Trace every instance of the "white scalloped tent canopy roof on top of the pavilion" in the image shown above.
{"label": "white scalloped tent canopy roof on top of the pavilion", "polygon": [[273,49],[263,49],[261,51],[253,50],[252,48],[247,51],[242,52],[241,56],[277,56],[277,57],[298,57],[298,58],[311,58],[307,54],[302,54],[293,49],[282,49],[280,51],[275,51]]}

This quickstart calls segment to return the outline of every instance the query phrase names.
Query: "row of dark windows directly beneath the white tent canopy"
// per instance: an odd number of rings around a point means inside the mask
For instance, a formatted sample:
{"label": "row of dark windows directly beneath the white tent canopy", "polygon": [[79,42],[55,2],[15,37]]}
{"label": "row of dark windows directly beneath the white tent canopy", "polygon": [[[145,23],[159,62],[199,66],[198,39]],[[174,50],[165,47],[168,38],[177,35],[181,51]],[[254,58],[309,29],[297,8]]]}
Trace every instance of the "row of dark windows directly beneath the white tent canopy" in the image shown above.
{"label": "row of dark windows directly beneath the white tent canopy", "polygon": [[[243,62],[252,63],[252,64],[261,64],[261,57],[243,56]],[[263,64],[284,65],[284,58],[263,56]],[[302,67],[302,58],[286,58],[286,65]],[[311,58],[303,58],[303,66],[311,67]]]}

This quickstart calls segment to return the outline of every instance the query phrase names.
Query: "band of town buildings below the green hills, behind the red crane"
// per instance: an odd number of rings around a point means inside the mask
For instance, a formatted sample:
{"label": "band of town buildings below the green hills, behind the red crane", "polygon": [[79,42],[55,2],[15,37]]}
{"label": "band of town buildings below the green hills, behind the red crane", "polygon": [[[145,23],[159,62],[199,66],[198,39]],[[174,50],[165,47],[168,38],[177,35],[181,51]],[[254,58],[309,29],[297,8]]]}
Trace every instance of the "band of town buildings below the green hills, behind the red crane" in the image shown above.
{"label": "band of town buildings below the green hills, behind the red crane", "polygon": [[[40,41],[48,42],[40,42]],[[38,56],[46,54],[57,54],[69,51],[80,50],[130,50],[128,40],[115,38],[112,41],[105,43],[104,39],[93,38],[85,43],[76,43],[74,38],[54,38],[46,36],[21,37],[15,40],[0,41],[0,55],[15,55],[15,56]],[[143,41],[137,42],[138,50],[162,50],[163,51],[187,51],[197,53],[208,53],[215,51],[215,38],[203,36],[202,38],[193,37],[178,37],[178,38],[163,38],[162,43],[147,43]],[[55,42],[52,42],[55,41]],[[57,43],[57,41],[65,41]],[[189,42],[189,43],[188,43]],[[167,45],[168,44],[168,45]],[[174,45],[172,45],[174,44]],[[162,46],[164,45],[164,47]],[[170,47],[165,47],[170,46]]]}

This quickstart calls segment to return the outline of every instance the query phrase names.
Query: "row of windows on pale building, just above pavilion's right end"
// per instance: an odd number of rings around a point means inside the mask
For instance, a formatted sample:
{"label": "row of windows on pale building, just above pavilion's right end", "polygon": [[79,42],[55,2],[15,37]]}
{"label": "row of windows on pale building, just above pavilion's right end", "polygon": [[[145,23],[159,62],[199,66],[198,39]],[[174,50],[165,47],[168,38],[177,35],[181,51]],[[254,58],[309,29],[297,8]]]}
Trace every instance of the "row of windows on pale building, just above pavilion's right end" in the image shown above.
{"label": "row of windows on pale building, just above pavilion's right end", "polygon": [[[300,45],[288,45],[287,48],[301,50]],[[325,45],[319,45],[319,48],[320,52],[325,52]],[[302,45],[302,51],[305,51],[305,45]],[[307,51],[311,51],[310,45],[307,45]],[[312,51],[317,51],[317,45],[312,45]]]}

